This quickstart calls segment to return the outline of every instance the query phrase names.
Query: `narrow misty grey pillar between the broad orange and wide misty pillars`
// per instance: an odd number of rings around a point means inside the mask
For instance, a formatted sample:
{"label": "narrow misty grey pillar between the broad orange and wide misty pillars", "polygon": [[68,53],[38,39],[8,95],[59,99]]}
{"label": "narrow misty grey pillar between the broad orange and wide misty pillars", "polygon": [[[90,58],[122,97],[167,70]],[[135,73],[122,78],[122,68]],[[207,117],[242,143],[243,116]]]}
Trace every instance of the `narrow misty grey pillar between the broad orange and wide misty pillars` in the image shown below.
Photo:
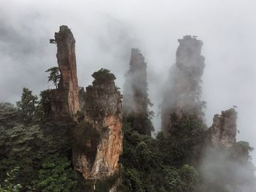
{"label": "narrow misty grey pillar between the broad orange and wide misty pillars", "polygon": [[124,84],[124,118],[140,134],[151,135],[151,120],[148,112],[146,62],[138,49],[132,49],[129,72]]}

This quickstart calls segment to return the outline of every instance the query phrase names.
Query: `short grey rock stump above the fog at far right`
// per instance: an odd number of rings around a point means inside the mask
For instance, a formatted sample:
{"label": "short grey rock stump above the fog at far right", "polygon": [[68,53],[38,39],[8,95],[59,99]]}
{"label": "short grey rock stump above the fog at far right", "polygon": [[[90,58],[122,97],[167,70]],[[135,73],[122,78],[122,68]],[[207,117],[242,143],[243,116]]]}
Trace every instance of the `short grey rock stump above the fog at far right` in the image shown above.
{"label": "short grey rock stump above the fog at far right", "polygon": [[214,146],[232,147],[236,142],[237,112],[233,108],[222,111],[222,115],[214,115],[211,126],[211,143]]}

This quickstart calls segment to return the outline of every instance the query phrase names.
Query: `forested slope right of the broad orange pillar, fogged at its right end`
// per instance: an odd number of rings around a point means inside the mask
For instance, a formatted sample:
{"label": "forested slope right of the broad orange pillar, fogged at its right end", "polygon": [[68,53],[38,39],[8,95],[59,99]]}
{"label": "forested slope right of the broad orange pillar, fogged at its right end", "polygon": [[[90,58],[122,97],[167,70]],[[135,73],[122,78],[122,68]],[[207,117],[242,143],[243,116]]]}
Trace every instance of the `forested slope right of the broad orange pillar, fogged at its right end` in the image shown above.
{"label": "forested slope right of the broad orange pillar, fogged at its right end", "polygon": [[156,139],[124,123],[124,191],[247,192],[255,187],[248,142],[217,148],[203,123],[182,118],[170,137]]}

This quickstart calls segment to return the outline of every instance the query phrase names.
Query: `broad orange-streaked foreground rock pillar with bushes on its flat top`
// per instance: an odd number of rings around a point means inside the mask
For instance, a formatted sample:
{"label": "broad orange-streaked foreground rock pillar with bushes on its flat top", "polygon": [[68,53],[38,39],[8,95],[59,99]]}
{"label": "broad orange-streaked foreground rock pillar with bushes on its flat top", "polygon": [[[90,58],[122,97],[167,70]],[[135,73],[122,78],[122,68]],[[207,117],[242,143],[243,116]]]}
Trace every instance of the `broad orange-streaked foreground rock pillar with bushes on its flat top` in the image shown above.
{"label": "broad orange-streaked foreground rock pillar with bushes on its flat top", "polygon": [[121,94],[114,75],[104,70],[86,88],[85,118],[75,130],[73,164],[86,180],[115,174],[122,150]]}

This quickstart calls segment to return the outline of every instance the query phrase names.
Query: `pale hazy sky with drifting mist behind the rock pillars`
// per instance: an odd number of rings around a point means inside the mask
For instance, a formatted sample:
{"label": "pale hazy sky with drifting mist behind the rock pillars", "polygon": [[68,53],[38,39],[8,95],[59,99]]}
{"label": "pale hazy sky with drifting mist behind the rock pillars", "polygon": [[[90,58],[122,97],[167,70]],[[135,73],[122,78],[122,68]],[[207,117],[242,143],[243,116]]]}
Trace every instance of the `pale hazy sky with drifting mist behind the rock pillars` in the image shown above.
{"label": "pale hazy sky with drifting mist behind the rock pillars", "polygon": [[[237,105],[238,140],[256,147],[255,10],[255,0],[0,0],[0,101],[18,101],[23,87],[37,94],[51,88],[45,70],[56,65],[56,45],[48,39],[67,25],[76,39],[80,86],[103,67],[122,88],[130,49],[139,48],[157,114],[177,39],[197,35],[206,58],[208,126],[214,114]],[[154,121],[159,128],[159,118]]]}

